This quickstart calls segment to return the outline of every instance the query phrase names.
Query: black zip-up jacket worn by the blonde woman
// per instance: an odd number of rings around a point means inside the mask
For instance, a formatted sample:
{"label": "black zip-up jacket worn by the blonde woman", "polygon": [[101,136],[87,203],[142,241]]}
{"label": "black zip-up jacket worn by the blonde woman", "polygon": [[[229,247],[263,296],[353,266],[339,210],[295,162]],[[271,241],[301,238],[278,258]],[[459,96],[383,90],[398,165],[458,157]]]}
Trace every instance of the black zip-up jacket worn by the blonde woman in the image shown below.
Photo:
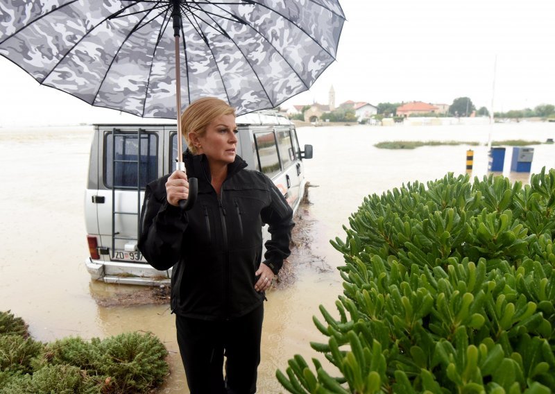
{"label": "black zip-up jacket worn by the blonde woman", "polygon": [[166,199],[165,175],[146,186],[139,250],[151,266],[171,276],[171,309],[206,320],[243,316],[264,301],[255,271],[262,260],[262,224],[268,223],[265,261],[274,273],[289,256],[293,211],[266,175],[228,164],[221,194],[210,183],[205,155],[185,155],[198,197],[185,212]]}

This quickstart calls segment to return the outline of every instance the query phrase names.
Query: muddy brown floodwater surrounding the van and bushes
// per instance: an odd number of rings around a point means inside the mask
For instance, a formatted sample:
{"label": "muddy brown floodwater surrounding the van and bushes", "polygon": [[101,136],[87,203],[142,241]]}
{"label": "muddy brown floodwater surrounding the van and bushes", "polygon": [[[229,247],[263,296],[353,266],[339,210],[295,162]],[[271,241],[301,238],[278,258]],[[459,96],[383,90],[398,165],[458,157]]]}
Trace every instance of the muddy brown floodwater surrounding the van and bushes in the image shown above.
{"label": "muddy brown floodwater surrounding the van and bushes", "polygon": [[[284,392],[275,370],[287,368],[294,354],[323,360],[309,346],[309,341],[325,341],[312,316],[320,317],[318,305],[337,315],[334,302],[342,291],[335,268],[343,258],[329,240],[344,239],[341,226],[364,196],[414,180],[442,178],[447,172],[466,172],[466,145],[391,151],[373,144],[400,139],[481,142],[470,147],[475,155],[472,175],[481,177],[487,173],[484,144],[489,132],[493,140],[545,142],[555,138],[555,123],[298,129],[301,146],[314,146],[314,159],[305,161],[314,186],[309,189],[311,205],[300,209],[309,239],[290,260],[296,282],[267,295],[259,393]],[[101,307],[94,301],[93,295],[136,288],[93,283],[85,270],[83,199],[91,139],[87,126],[0,128],[0,310],[24,318],[40,341],[153,332],[170,352],[172,373],[160,392],[188,393],[167,305]],[[555,145],[533,148],[532,172],[555,166]],[[529,174],[510,173],[511,153],[508,147],[504,175],[528,182]]]}

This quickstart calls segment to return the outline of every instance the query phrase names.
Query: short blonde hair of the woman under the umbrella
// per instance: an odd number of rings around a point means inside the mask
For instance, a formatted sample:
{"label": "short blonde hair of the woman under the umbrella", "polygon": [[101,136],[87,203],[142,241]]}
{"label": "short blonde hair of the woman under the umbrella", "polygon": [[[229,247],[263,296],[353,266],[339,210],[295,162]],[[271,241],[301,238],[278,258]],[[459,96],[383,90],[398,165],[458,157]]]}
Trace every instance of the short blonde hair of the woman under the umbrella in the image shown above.
{"label": "short blonde hair of the woman under the umbrella", "polygon": [[203,97],[191,103],[181,114],[181,134],[185,137],[189,151],[196,155],[196,147],[189,139],[191,132],[203,136],[206,127],[221,115],[235,116],[235,109],[216,97]]}

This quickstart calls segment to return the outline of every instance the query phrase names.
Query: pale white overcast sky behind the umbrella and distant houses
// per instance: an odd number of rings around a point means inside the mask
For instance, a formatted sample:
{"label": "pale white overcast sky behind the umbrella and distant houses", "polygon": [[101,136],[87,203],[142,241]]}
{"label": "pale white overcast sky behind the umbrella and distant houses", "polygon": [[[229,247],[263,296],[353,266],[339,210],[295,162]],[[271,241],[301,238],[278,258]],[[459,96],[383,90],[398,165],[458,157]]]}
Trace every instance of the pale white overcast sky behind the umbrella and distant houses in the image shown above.
{"label": "pale white overcast sky behind the umbrella and distant houses", "polygon": [[[284,103],[451,104],[469,96],[494,110],[555,104],[553,0],[342,0],[337,61],[308,92]],[[0,126],[137,121],[42,87],[0,57]]]}

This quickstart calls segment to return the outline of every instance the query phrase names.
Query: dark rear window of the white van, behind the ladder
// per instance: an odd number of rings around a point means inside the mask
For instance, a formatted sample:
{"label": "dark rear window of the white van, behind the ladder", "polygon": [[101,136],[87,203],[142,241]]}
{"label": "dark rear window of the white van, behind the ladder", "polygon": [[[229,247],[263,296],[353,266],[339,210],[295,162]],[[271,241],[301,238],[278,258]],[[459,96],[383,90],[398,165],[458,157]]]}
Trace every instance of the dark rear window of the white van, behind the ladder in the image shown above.
{"label": "dark rear window of the white van, behind the ladder", "polygon": [[[139,187],[142,189],[148,182],[157,178],[157,135],[144,133],[141,135],[140,141],[141,152],[140,155],[137,155],[139,151],[137,133],[121,133],[115,136],[112,136],[112,132],[105,134],[104,184],[106,187],[136,189],[137,172],[140,173]],[[140,162],[138,167],[137,156]],[[114,173],[115,180],[113,179]]]}

